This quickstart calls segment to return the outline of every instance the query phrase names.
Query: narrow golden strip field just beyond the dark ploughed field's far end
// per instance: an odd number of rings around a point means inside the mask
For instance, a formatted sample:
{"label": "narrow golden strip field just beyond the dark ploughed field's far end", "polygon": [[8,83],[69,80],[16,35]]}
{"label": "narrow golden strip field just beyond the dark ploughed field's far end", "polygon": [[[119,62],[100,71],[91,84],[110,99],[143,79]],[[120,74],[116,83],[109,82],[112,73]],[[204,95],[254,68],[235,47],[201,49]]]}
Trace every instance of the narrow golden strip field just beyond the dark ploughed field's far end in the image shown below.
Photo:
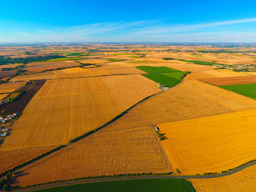
{"label": "narrow golden strip field just beyond the dark ploughed field's far end", "polygon": [[16,77],[13,77],[10,81],[30,81],[30,80],[50,80],[56,77],[56,74],[53,72],[42,72],[37,74],[23,74]]}

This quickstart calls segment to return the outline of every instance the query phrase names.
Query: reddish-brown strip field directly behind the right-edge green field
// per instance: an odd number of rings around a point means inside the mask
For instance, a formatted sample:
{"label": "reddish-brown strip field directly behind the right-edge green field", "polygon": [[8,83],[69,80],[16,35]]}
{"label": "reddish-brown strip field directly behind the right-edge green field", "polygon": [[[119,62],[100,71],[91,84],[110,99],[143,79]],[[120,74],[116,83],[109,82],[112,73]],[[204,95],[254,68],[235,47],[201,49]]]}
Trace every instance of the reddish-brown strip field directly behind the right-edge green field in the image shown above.
{"label": "reddish-brown strip field directly behind the right-edge green field", "polygon": [[208,82],[212,85],[241,85],[256,83],[255,76],[246,76],[246,77],[222,77],[222,78],[208,78],[201,79],[203,82]]}

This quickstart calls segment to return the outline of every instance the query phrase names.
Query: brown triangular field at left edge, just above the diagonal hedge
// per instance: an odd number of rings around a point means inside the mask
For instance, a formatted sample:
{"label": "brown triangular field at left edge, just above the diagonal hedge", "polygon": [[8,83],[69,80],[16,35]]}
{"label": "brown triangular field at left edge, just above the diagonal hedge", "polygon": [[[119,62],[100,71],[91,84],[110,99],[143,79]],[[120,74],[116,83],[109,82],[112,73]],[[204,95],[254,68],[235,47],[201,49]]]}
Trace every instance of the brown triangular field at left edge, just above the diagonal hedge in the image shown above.
{"label": "brown triangular field at left edge, just above the diagonal hedge", "polygon": [[31,158],[52,150],[56,146],[30,147],[23,150],[0,150],[0,172],[12,169],[14,166],[23,164]]}

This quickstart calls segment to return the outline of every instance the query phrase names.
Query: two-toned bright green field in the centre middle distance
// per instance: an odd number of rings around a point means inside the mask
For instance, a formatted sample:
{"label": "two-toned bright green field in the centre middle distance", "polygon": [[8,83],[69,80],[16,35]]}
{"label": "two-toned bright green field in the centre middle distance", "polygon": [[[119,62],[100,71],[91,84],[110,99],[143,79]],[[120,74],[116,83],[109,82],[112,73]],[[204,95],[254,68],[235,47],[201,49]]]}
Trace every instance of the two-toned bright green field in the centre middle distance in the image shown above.
{"label": "two-toned bright green field in the centre middle distance", "polygon": [[142,74],[154,82],[159,82],[165,87],[173,87],[177,85],[188,72],[181,72],[176,69],[172,69],[167,66],[136,66],[138,69],[148,72],[148,74]]}

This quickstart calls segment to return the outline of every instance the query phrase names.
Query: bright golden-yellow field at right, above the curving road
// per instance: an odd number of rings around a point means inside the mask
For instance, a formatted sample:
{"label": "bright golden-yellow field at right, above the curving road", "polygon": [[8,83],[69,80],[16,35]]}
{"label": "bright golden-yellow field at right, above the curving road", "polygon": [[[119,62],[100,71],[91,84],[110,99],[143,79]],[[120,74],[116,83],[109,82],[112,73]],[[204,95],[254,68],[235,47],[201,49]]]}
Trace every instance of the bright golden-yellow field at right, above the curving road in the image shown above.
{"label": "bright golden-yellow field at right, above the curving road", "polygon": [[203,174],[232,169],[256,158],[256,110],[159,124],[173,169]]}

